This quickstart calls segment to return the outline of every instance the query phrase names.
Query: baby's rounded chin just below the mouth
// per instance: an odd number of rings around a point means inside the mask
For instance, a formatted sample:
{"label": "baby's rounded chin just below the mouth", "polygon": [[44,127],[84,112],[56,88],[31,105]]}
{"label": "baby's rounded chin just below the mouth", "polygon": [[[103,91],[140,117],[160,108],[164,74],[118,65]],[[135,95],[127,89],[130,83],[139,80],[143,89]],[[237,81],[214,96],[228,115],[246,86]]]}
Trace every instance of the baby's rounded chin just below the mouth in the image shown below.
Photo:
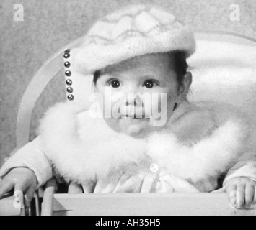
{"label": "baby's rounded chin just below the mouth", "polygon": [[135,138],[144,138],[151,131],[149,118],[134,119],[123,117],[119,119],[119,126],[121,132]]}

